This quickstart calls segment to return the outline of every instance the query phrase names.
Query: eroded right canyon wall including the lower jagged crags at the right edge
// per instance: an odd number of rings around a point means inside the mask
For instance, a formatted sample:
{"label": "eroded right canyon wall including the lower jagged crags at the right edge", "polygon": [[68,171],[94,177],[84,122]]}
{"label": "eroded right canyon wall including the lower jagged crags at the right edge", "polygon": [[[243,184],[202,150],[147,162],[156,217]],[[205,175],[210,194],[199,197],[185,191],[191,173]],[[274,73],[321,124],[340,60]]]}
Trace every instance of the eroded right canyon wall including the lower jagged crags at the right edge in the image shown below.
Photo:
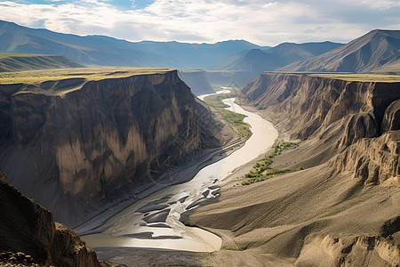
{"label": "eroded right canyon wall including the lower jagged crags at the right edge", "polygon": [[238,101],[262,109],[292,139],[330,150],[306,166],[332,159],[338,173],[351,170],[366,183],[398,183],[400,83],[266,72],[244,87]]}

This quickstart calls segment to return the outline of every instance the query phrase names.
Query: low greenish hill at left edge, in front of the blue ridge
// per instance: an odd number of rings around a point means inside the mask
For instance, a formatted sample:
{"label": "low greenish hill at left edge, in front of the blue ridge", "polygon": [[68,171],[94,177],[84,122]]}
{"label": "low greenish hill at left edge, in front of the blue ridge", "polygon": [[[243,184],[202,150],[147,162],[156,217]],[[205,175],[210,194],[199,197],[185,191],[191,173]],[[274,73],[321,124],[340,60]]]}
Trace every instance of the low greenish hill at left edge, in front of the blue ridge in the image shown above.
{"label": "low greenish hill at left edge, in front of the blue ridge", "polygon": [[80,67],[84,66],[59,55],[0,53],[0,72]]}

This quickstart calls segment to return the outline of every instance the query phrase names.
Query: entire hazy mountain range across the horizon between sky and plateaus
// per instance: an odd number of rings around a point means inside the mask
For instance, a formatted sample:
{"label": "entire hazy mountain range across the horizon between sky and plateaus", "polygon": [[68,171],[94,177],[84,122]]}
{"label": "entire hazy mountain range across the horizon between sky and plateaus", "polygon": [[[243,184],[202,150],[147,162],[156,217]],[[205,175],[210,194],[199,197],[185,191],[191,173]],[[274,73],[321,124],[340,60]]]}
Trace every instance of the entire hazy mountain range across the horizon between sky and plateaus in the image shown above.
{"label": "entire hazy mountain range across the horizon between sky and plateaus", "polygon": [[[58,58],[36,58],[36,63],[13,59],[2,71],[65,68],[74,65],[168,67],[174,69],[208,69],[238,71],[248,77],[247,84],[263,71],[305,72],[377,72],[400,73],[400,31],[375,29],[348,44],[332,42],[261,47],[244,40],[229,40],[216,44],[179,42],[128,42],[109,36],[76,36],[52,32],[43,28],[27,28],[0,20],[0,51],[5,53],[58,54]],[[32,60],[32,58],[30,59]],[[62,61],[62,62],[60,62]],[[68,61],[68,62],[67,62]],[[73,61],[76,61],[74,63]],[[3,61],[0,62],[3,64]],[[14,67],[15,68],[14,68]],[[229,82],[234,81],[236,72]],[[223,76],[226,76],[224,74]],[[240,78],[242,80],[242,78]]]}

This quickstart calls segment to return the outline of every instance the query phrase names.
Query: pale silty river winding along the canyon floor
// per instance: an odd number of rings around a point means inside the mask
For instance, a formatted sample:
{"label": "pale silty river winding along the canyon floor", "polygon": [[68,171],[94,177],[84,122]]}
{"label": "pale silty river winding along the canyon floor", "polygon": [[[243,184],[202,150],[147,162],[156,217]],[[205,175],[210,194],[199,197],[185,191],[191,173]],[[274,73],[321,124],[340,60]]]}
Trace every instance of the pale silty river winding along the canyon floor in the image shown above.
{"label": "pale silty river winding along the canyon floor", "polygon": [[[228,93],[228,91],[219,92]],[[204,95],[200,97],[204,99]],[[277,138],[274,126],[257,114],[246,111],[226,99],[232,111],[246,115],[252,136],[244,146],[212,165],[205,166],[190,181],[173,185],[116,214],[97,233],[84,236],[90,247],[153,247],[196,252],[219,250],[221,239],[209,231],[180,223],[180,214],[206,198],[218,198],[219,182],[238,166],[266,153]]]}

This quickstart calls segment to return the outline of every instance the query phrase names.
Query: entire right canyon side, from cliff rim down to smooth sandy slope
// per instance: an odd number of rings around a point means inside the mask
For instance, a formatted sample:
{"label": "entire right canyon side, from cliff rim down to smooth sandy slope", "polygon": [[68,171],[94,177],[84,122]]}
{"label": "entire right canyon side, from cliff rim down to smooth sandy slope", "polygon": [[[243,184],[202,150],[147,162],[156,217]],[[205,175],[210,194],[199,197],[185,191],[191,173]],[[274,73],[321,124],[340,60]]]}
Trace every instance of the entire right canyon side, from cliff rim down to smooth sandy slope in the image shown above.
{"label": "entire right canyon side, from cliff rim down to smooth sandy slope", "polygon": [[263,73],[244,88],[239,101],[303,140],[271,167],[305,169],[241,187],[242,166],[182,218],[222,237],[220,266],[400,264],[400,83],[361,77]]}

